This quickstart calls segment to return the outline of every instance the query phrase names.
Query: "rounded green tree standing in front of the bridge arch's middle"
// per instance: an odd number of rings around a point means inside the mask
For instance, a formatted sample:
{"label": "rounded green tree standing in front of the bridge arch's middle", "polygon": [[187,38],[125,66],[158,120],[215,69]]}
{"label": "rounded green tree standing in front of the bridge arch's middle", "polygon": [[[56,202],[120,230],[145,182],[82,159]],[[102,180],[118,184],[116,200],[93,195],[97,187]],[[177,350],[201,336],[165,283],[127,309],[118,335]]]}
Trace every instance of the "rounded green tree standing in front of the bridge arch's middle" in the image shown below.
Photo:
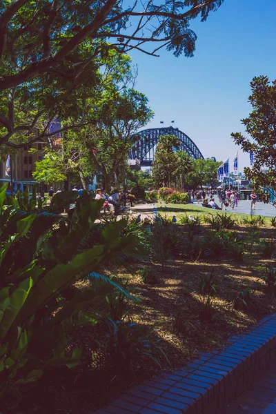
{"label": "rounded green tree standing in front of the bridge arch's middle", "polygon": [[157,188],[164,184],[172,186],[179,161],[173,148],[179,148],[179,139],[175,135],[161,135],[152,166],[152,179]]}

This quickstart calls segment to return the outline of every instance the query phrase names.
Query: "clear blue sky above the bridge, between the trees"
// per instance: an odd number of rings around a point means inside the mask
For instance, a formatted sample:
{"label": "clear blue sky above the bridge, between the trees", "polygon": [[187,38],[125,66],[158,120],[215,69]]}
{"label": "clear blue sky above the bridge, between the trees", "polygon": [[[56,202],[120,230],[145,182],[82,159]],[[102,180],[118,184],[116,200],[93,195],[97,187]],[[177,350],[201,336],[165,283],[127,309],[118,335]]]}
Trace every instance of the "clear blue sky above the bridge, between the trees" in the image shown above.
{"label": "clear blue sky above the bridge, between the trees", "polygon": [[[137,89],[144,92],[155,112],[149,128],[160,121],[185,132],[205,158],[233,157],[239,147],[231,132],[244,132],[240,119],[250,112],[250,80],[276,78],[276,1],[224,0],[206,22],[192,21],[197,34],[195,56],[174,57],[161,50],[160,57],[132,52],[138,64]],[[239,151],[240,170],[249,155]]]}

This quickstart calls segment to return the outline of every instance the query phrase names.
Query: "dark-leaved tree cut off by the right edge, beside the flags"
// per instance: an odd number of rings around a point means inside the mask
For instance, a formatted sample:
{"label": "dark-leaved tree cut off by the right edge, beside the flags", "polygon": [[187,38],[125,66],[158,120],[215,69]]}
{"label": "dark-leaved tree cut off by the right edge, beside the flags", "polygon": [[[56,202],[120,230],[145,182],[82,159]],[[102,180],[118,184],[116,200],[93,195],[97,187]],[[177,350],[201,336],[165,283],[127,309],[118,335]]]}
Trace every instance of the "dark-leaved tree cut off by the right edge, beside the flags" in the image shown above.
{"label": "dark-leaved tree cut off by the right edge, beside the flags", "polygon": [[242,119],[249,138],[241,132],[231,136],[244,152],[253,153],[254,164],[252,168],[244,168],[244,173],[253,180],[259,196],[266,199],[264,190],[276,196],[276,79],[270,83],[266,76],[254,77],[250,87],[248,101],[253,110]]}

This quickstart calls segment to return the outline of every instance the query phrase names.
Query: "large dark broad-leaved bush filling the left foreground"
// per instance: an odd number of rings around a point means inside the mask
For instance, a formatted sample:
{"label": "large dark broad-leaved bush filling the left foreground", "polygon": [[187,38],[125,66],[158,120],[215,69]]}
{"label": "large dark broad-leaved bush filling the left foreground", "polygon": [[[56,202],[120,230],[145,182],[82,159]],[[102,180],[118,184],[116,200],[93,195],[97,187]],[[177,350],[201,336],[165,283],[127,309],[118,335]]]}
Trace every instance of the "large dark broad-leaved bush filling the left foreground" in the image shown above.
{"label": "large dark broad-leaved bush filling the left foreground", "polygon": [[[12,387],[34,382],[46,366],[79,364],[81,350],[66,351],[67,333],[79,325],[94,326],[99,313],[86,311],[97,300],[124,291],[108,277],[95,273],[110,257],[125,255],[137,248],[135,235],[121,236],[126,221],[108,224],[101,244],[77,253],[99,216],[101,201],[75,191],[55,195],[48,211],[13,214],[14,206],[4,206],[6,188],[0,188],[0,224],[8,229],[0,234],[0,397]],[[57,197],[58,196],[58,197]],[[72,219],[65,221],[51,210],[62,210],[76,202]],[[9,225],[17,217],[14,225]],[[47,223],[47,225],[46,225]],[[22,258],[19,260],[19,257]],[[86,275],[95,288],[83,290],[72,299],[63,291]],[[128,295],[128,293],[124,293]],[[128,295],[130,297],[130,295]]]}

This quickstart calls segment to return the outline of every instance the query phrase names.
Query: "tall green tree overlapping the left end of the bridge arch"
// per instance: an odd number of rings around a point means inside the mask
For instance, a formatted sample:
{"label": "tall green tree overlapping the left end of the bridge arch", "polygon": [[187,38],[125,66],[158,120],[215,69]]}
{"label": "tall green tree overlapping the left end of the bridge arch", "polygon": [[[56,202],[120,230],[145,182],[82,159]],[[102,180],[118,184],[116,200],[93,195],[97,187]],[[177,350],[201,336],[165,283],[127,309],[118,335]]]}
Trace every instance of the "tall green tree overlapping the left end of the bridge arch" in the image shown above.
{"label": "tall green tree overlapping the left end of the bridge arch", "polygon": [[153,112],[148,108],[148,98],[133,88],[106,92],[90,112],[95,128],[86,128],[83,139],[109,192],[110,182],[115,179],[118,186],[119,170],[126,168],[135,132],[148,123]]}

